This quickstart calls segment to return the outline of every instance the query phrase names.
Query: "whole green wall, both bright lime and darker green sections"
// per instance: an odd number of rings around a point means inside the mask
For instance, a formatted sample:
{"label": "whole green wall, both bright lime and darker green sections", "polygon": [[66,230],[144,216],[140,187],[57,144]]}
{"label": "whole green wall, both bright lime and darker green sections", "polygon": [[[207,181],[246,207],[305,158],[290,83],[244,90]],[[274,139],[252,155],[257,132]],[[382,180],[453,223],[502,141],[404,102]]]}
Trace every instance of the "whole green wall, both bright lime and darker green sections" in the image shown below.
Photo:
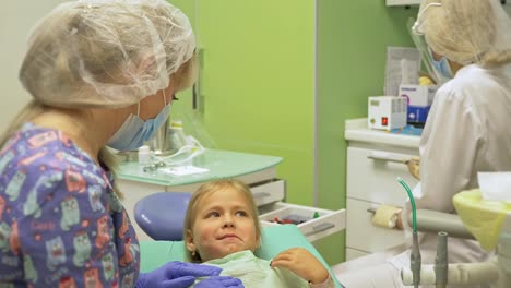
{"label": "whole green wall, both bright lime and darker green sections", "polygon": [[[216,148],[284,157],[288,202],[313,204],[316,169],[319,206],[344,208],[344,121],[382,94],[387,46],[412,46],[405,23],[417,10],[384,0],[171,2],[194,23],[204,60],[201,109],[189,112],[191,93],[180,93],[171,117],[191,116]],[[314,245],[330,264],[344,261],[344,233]]]}

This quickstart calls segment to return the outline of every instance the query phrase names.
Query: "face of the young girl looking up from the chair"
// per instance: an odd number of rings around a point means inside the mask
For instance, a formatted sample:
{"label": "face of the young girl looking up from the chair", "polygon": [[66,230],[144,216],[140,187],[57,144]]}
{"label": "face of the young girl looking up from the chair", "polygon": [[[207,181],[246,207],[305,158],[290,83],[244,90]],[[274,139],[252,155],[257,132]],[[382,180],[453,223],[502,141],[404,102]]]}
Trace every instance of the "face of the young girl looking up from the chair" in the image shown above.
{"label": "face of the young girl looking up from the chair", "polygon": [[242,192],[225,188],[204,195],[198,203],[195,221],[187,231],[187,248],[202,261],[221,259],[259,247],[254,217]]}

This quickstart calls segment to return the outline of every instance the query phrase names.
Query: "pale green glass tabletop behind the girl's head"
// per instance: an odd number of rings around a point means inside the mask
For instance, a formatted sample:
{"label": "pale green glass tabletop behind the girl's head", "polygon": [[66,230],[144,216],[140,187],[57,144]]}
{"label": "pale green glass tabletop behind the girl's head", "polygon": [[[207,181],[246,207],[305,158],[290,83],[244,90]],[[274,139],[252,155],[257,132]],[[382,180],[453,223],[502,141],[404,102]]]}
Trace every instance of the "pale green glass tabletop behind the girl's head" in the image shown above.
{"label": "pale green glass tabletop behind the girl's head", "polygon": [[218,178],[234,178],[242,175],[258,172],[276,166],[282,157],[238,153],[230,151],[206,149],[193,158],[193,166],[206,168],[203,173],[174,176],[156,170],[144,172],[139,163],[123,163],[119,166],[117,176],[120,179],[145,182],[158,185],[185,185],[205,182]]}

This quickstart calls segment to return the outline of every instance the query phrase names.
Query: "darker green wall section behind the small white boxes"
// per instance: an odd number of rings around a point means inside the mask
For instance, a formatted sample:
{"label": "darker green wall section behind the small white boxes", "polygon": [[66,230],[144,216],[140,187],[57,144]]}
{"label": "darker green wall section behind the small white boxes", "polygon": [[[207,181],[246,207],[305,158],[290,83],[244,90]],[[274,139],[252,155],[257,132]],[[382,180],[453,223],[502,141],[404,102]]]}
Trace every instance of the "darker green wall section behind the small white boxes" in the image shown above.
{"label": "darker green wall section behind the small white boxes", "polygon": [[[416,13],[416,8],[388,8],[383,0],[318,0],[320,207],[346,206],[344,121],[366,117],[367,97],[383,94],[387,47],[413,45],[405,24]],[[336,235],[316,245],[333,264],[344,260],[344,235]]]}

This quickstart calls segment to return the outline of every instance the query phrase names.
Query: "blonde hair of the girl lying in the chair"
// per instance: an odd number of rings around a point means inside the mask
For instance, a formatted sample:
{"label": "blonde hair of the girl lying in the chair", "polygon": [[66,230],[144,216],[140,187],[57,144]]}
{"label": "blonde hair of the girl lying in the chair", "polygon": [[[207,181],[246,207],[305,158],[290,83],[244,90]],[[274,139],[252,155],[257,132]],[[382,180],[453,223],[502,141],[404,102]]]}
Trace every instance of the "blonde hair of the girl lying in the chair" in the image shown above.
{"label": "blonde hair of the girl lying in the chair", "polygon": [[[199,208],[199,204],[201,200],[210,195],[213,192],[216,192],[222,189],[227,189],[231,188],[239,193],[242,193],[245,197],[247,199],[249,203],[249,207],[251,209],[251,213],[253,215],[253,226],[255,228],[255,237],[260,238],[261,237],[261,225],[259,224],[259,218],[258,218],[258,206],[255,205],[255,201],[253,200],[252,192],[250,192],[250,188],[245,184],[243,182],[236,180],[236,179],[221,179],[221,180],[214,180],[210,181],[207,183],[202,184],[192,195],[190,199],[190,203],[188,203],[188,208],[187,208],[187,214],[185,216],[185,223],[183,223],[183,239],[187,239],[187,232],[189,230],[192,230],[193,225],[195,224],[197,219],[197,211]],[[201,256],[199,253],[192,253],[188,249],[185,248],[185,253],[187,255],[188,261],[194,262],[194,263],[202,263]]]}

